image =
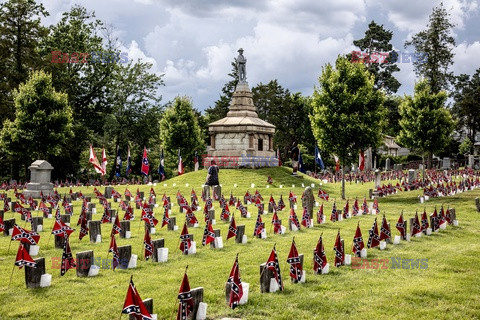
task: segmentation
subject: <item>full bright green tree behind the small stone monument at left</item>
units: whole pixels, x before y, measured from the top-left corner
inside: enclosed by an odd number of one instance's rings
[[[5,121],[0,144],[12,161],[23,164],[26,178],[32,160],[51,161],[55,167],[51,158],[73,143],[72,110],[67,95],[56,92],[52,76],[43,71],[32,72],[13,95],[15,120]]]

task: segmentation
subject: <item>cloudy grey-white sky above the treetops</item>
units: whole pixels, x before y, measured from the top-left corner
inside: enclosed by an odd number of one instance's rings
[[[39,0],[37,0],[39,1]],[[277,79],[292,92],[310,95],[321,68],[338,54],[356,50],[375,20],[393,31],[392,43],[403,44],[425,29],[432,8],[441,0],[41,0],[56,23],[73,4],[80,4],[109,23],[129,58],[142,58],[165,74],[163,101],[177,95],[193,99],[197,109],[213,106],[230,81],[231,61],[242,47],[250,87]],[[480,67],[478,0],[443,0],[455,23],[455,73]],[[409,51],[413,49],[410,48]],[[408,50],[406,50],[408,51]],[[415,74],[400,63],[400,94],[411,94]]]

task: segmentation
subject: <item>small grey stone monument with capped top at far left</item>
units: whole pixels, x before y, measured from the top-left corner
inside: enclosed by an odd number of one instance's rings
[[[45,160],[36,160],[30,167],[30,182],[27,183],[27,189],[23,191],[26,198],[40,198],[40,192],[44,196],[53,194],[53,183],[50,182],[53,167]]]

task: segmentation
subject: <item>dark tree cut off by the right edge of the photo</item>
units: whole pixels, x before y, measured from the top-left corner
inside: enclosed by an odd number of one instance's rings
[[[480,130],[480,68],[471,77],[462,74],[456,78],[453,97],[452,113],[458,120],[457,131],[466,134],[471,142],[469,152],[473,153],[473,143]]]

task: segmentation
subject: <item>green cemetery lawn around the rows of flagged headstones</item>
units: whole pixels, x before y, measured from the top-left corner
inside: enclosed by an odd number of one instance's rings
[[[223,185],[223,194],[226,198],[230,192],[235,197],[242,197],[247,191],[262,194],[265,206],[268,205],[270,194],[278,202],[280,195],[288,208],[288,193],[292,190],[298,196],[296,213],[301,219],[300,196],[302,183],[306,186],[314,183],[315,199],[317,197],[319,181],[302,175],[295,178],[287,168],[257,169],[257,170],[221,170],[220,182]],[[271,175],[273,184],[266,188],[267,177]],[[206,171],[188,173],[168,181],[158,183],[154,190],[157,198],[163,193],[171,197],[175,206],[172,216],[177,217],[178,231],[167,231],[160,228],[163,210],[155,208],[156,217],[160,220],[156,234],[152,239],[164,238],[165,246],[169,248],[169,259],[166,263],[154,263],[143,260],[143,222],[139,220],[141,211],[135,210],[135,220],[132,221],[130,239],[121,239],[117,236],[118,246],[131,244],[132,253],[137,254],[139,261],[136,269],[129,270],[100,270],[100,274],[93,278],[78,278],[74,269],[69,270],[63,277],[59,269],[52,269],[52,258],[61,257],[62,250],[54,248],[53,236],[49,233],[54,219],[44,219],[44,231],[41,232],[40,253],[38,257],[45,257],[46,271],[52,274],[52,285],[48,288],[26,289],[24,270],[15,267],[13,279],[8,288],[15,255],[18,248],[17,241],[10,241],[9,237],[0,236],[0,318],[1,319],[120,319],[125,294],[130,276],[138,289],[142,299],[154,299],[154,313],[158,319],[175,319],[177,310],[177,294],[182,281],[183,272],[188,265],[188,276],[191,288],[204,287],[204,302],[208,304],[207,316],[209,319],[223,317],[241,319],[472,319],[480,318],[480,213],[475,209],[475,197],[480,197],[480,189],[467,191],[455,196],[430,199],[425,204],[419,204],[418,195],[421,191],[401,192],[397,195],[380,198],[379,206],[386,214],[392,228],[392,237],[398,235],[395,224],[401,211],[406,219],[413,217],[415,211],[419,214],[424,207],[427,213],[433,212],[434,207],[441,205],[456,209],[459,226],[448,226],[446,230],[434,233],[431,236],[412,238],[410,242],[402,241],[400,245],[387,245],[383,251],[368,250],[368,258],[389,259],[388,269],[354,270],[351,266],[333,267],[333,245],[337,231],[340,230],[345,240],[346,254],[351,253],[352,239],[357,223],[363,234],[365,245],[368,239],[368,230],[375,219],[372,215],[354,217],[352,219],[325,224],[315,223],[314,228],[299,232],[287,230],[285,235],[274,235],[271,228],[272,214],[265,214],[262,219],[267,229],[267,239],[253,238],[253,230],[257,216],[254,205],[249,205],[251,218],[241,218],[239,211],[235,212],[237,225],[246,225],[248,236],[247,244],[236,244],[233,239],[225,241],[228,232],[228,223],[219,219],[219,205],[216,209],[216,225],[214,229],[221,230],[223,249],[202,247],[201,239],[204,230],[204,219],[201,211],[196,212],[200,220],[198,228],[190,228],[197,243],[197,254],[182,255],[178,250],[179,235],[185,221],[185,215],[179,213],[175,195],[178,190],[190,202],[192,187],[201,195],[201,185],[205,181]],[[186,184],[189,184],[186,186]],[[254,187],[251,184],[255,184]],[[164,184],[166,186],[164,186]],[[235,187],[236,184],[236,187]],[[295,186],[292,187],[292,184]],[[283,185],[283,188],[280,188]],[[330,200],[324,202],[324,213],[330,217],[332,204],[336,199],[337,209],[342,209],[345,201],[340,199],[340,183],[326,184],[322,188],[330,194]],[[373,182],[367,184],[346,183],[346,195],[350,199],[350,208],[355,197],[359,202],[368,189],[373,188]],[[125,186],[115,187],[122,195]],[[135,193],[137,186],[129,186]],[[101,192],[104,188],[99,188]],[[140,191],[148,194],[150,186],[140,186]],[[59,193],[68,194],[68,188],[59,188]],[[73,191],[82,191],[84,195],[92,196],[97,203],[97,214],[94,220],[99,220],[102,210],[94,198],[93,187],[73,188]],[[13,197],[12,192],[8,192]],[[369,200],[369,203],[372,201]],[[200,200],[203,208],[203,201]],[[118,209],[118,204],[112,203],[112,208]],[[81,208],[81,201],[74,202],[74,216],[72,227],[76,231],[71,235],[71,249],[73,255],[84,250],[94,250],[96,257],[111,258],[108,254],[109,235],[111,224],[102,225],[102,243],[91,244],[88,236],[78,240],[80,228],[76,226]],[[314,208],[316,212],[317,207]],[[63,213],[63,212],[62,212]],[[34,216],[40,215],[35,211]],[[123,217],[123,211],[120,213]],[[284,226],[288,226],[289,210],[279,212],[279,218]],[[17,223],[20,215],[13,212],[5,213],[5,219],[15,217]],[[381,216],[378,216],[381,223]],[[27,225],[27,229],[30,226]],[[288,229],[288,228],[287,228]],[[313,254],[319,236],[323,233],[323,241],[330,273],[327,275],[313,274]],[[292,238],[295,237],[299,253],[305,255],[304,269],[307,271],[306,283],[293,284],[289,279],[289,265],[286,263]],[[7,252],[11,242],[10,250]],[[259,266],[264,263],[276,244],[280,261],[285,291],[277,293],[260,293]],[[243,282],[250,283],[248,303],[231,310],[225,302],[225,281],[230,269],[239,254],[240,274]],[[392,269],[391,258],[401,259],[428,259],[426,269]],[[36,257],[34,257],[36,258]],[[123,315],[121,319],[128,319]]]

